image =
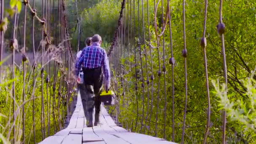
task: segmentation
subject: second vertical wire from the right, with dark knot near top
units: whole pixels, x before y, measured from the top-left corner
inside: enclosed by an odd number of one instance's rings
[[[209,82],[208,82],[208,70],[207,70],[207,57],[206,57],[206,38],[205,38],[205,31],[206,31],[206,19],[207,19],[207,5],[208,0],[205,0],[205,15],[204,15],[204,22],[203,22],[203,37],[201,38],[200,45],[203,48],[203,59],[205,65],[205,82],[206,82],[206,91],[207,91],[207,100],[208,100],[208,110],[207,110],[207,125],[205,128],[205,136],[203,139],[203,144],[206,144],[208,129],[210,125],[210,118],[211,118],[211,104],[210,104],[210,92],[209,92]]]

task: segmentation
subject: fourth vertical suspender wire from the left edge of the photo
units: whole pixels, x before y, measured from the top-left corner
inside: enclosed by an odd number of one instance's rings
[[[33,11],[35,12],[35,0],[33,0]],[[32,41],[33,41],[33,85],[35,85],[35,67],[36,67],[36,61],[35,61],[35,13],[32,13]],[[33,137],[34,137],[34,144],[35,142],[35,95],[33,95]]]

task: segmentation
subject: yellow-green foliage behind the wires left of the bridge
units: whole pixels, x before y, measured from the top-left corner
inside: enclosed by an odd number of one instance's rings
[[[27,67],[28,69],[29,67]],[[38,65],[38,68],[40,68],[40,64]],[[28,69],[29,70],[29,69]],[[27,143],[32,143],[33,141],[33,109],[32,109],[32,101],[34,99],[35,101],[35,131],[36,131],[36,141],[41,141],[41,91],[42,91],[42,84],[41,84],[41,70],[36,69],[35,70],[35,79],[33,79],[32,71],[28,71],[26,74],[26,82],[25,82],[25,91],[26,91],[26,97],[25,97],[25,141]],[[59,77],[60,77],[59,72]],[[11,136],[8,136],[8,132],[12,131],[11,125],[13,124],[13,112],[12,112],[12,104],[13,104],[13,96],[12,96],[12,79],[6,79],[7,77],[11,77],[11,71],[8,67],[4,67],[4,81],[2,80],[1,83],[1,93],[0,93],[0,133],[3,134],[7,138],[8,141],[13,139],[13,135],[11,133]],[[15,69],[15,76],[16,79],[15,82],[15,103],[16,103],[16,141],[21,140],[22,136],[22,111],[21,106],[23,104],[22,102],[22,89],[23,89],[23,72],[22,68],[20,66]],[[35,80],[35,85],[33,85],[33,80]],[[53,83],[53,77],[50,80],[50,83]],[[56,87],[59,87],[59,83],[56,83]],[[61,117],[66,115],[65,113],[62,113],[63,111],[57,110],[57,105],[53,109],[53,101],[55,101],[55,104],[58,104],[60,98],[59,96],[55,96],[55,99],[53,99],[52,89],[48,87],[47,91],[47,84],[45,83],[45,80],[43,80],[43,96],[44,96],[44,115],[45,115],[45,133],[47,136],[47,109],[51,110],[51,113],[53,110],[55,111],[55,115],[60,115]],[[65,95],[65,89],[63,89],[62,94]],[[51,97],[51,109],[50,109],[50,97]],[[65,100],[66,101],[66,100]],[[63,101],[63,102],[65,102]],[[66,109],[66,105],[64,103],[59,103],[59,109]],[[62,119],[55,117],[57,124],[58,122],[63,123]],[[53,125],[53,115],[50,115],[50,134],[54,134],[54,125]],[[30,142],[29,142],[30,141]]]

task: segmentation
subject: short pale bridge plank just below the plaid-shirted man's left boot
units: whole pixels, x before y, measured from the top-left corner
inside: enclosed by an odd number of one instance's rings
[[[97,136],[92,128],[83,128],[83,143],[89,141],[102,141],[103,139]]]

